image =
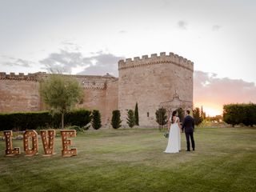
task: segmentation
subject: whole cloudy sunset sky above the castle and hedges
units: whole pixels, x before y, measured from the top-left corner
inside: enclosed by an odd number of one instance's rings
[[[118,60],[194,62],[194,106],[256,102],[256,1],[0,0],[0,71],[118,77]]]

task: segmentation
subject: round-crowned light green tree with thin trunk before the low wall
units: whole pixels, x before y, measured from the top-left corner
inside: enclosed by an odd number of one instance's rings
[[[83,90],[79,82],[60,74],[50,74],[49,78],[42,80],[39,94],[53,114],[62,115],[62,129],[64,114],[83,98]]]

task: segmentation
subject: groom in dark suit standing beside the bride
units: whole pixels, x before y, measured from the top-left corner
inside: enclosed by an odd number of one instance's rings
[[[186,118],[182,122],[182,133],[185,129],[186,134],[186,151],[190,151],[190,139],[192,143],[192,149],[194,150],[194,118],[190,116],[190,110],[186,110]]]

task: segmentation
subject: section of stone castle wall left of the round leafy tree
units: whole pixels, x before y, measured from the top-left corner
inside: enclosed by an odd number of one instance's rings
[[[38,75],[0,73],[0,112],[42,110]]]

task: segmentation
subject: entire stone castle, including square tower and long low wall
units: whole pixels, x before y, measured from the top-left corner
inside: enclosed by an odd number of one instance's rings
[[[155,112],[164,107],[176,110],[193,108],[194,63],[177,54],[165,52],[126,58],[118,62],[118,78],[106,74],[71,75],[81,83],[85,98],[78,108],[99,110],[102,124],[109,125],[112,111],[120,110],[126,126],[128,110],[138,102],[139,124],[157,126]],[[0,73],[0,113],[45,110],[40,98],[39,81],[49,74]]]

